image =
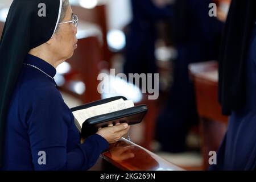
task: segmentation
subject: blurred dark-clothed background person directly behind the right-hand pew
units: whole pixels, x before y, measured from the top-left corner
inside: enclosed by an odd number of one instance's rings
[[[210,17],[208,7],[212,0],[179,0],[173,9],[174,46],[177,59],[174,61],[174,82],[166,107],[159,114],[156,139],[162,151],[183,152],[185,138],[192,125],[197,125],[195,93],[189,79],[188,64],[217,60],[224,10],[218,9],[217,17]]]

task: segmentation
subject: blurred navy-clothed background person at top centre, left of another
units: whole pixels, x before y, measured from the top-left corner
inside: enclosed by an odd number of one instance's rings
[[[157,73],[156,22],[170,18],[167,0],[131,0],[132,20],[127,26],[124,73]]]

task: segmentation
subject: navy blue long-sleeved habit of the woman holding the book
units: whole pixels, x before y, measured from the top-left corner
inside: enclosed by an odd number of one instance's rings
[[[56,69],[28,55],[24,63],[49,76]],[[23,65],[6,123],[3,170],[84,170],[96,163],[109,143],[94,134],[80,144],[71,110],[55,81],[29,65]],[[46,164],[42,164],[42,152]]]

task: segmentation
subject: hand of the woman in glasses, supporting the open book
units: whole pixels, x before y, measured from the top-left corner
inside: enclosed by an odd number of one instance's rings
[[[101,135],[101,137],[105,138],[109,143],[118,142],[123,135],[127,134],[130,126],[127,123],[122,123],[119,125],[110,125],[108,127],[100,128],[96,134]]]

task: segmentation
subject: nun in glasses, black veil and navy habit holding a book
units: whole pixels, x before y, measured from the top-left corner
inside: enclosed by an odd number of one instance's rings
[[[129,130],[123,123],[80,139],[53,79],[77,47],[77,22],[68,0],[13,1],[0,43],[0,169],[88,169]]]

